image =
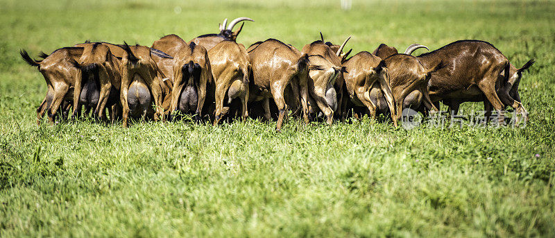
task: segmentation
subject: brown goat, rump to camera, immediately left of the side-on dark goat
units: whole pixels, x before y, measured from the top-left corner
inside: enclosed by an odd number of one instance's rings
[[[402,117],[405,99],[414,91],[422,94],[422,101],[428,110],[438,110],[429,98],[427,87],[430,74],[438,68],[438,65],[422,65],[414,56],[397,53],[382,60],[376,70],[379,71],[379,68],[384,70],[384,67],[387,68],[398,119]]]

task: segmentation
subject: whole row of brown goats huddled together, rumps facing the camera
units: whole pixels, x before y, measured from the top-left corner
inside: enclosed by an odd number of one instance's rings
[[[24,60],[37,67],[48,91],[37,109],[37,123],[46,112],[54,123],[56,115],[81,117],[93,110],[93,117],[114,123],[121,118],[165,120],[190,114],[195,120],[263,117],[273,119],[277,130],[292,110],[305,122],[368,114],[391,115],[397,126],[404,108],[428,114],[438,110],[439,101],[452,113],[466,101],[483,101],[486,117],[492,109],[502,117],[511,106],[524,115],[518,84],[522,71],[492,44],[461,40],[441,49],[411,56],[420,44],[404,53],[380,44],[369,53],[361,51],[348,58],[341,45],[316,40],[295,47],[275,39],[256,42],[246,49],[236,42],[239,17],[220,33],[200,35],[188,44],[177,35],[166,35],[148,46],[107,42],[85,42],[64,47],[43,60]],[[270,99],[273,99],[271,101]],[[492,108],[493,107],[493,108]],[[248,110],[248,108],[250,110]],[[240,109],[240,110],[239,110]],[[275,115],[275,113],[274,113]],[[526,118],[525,118],[526,119]]]

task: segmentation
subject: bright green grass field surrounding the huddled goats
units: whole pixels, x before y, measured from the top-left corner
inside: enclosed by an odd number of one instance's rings
[[[555,2],[17,1],[0,9],[0,237],[554,237]],[[493,43],[524,73],[524,128],[372,121],[35,124],[42,75],[19,57],[84,40],[150,46],[216,33],[299,49]],[[423,53],[419,50],[416,52]],[[462,110],[481,110],[466,103]],[[445,110],[445,108],[442,108]]]

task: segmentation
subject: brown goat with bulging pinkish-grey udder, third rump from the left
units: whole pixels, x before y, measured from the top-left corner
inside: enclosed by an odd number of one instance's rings
[[[153,119],[164,119],[162,99],[166,85],[162,71],[151,58],[151,49],[147,46],[128,46],[121,60],[121,93],[120,100],[123,108],[123,127],[128,126],[128,117],[146,116],[148,108],[153,102],[155,110]]]

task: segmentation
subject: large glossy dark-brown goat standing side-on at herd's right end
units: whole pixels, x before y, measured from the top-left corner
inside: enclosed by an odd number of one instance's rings
[[[520,103],[518,83],[522,71],[533,65],[533,60],[517,69],[493,44],[479,40],[453,42],[422,54],[418,59],[423,65],[441,65],[430,78],[432,101],[453,100],[456,103],[452,109],[456,110],[465,101],[484,101],[486,117],[490,116],[493,106],[500,118],[503,117],[501,110],[511,106],[527,120],[527,111]]]

